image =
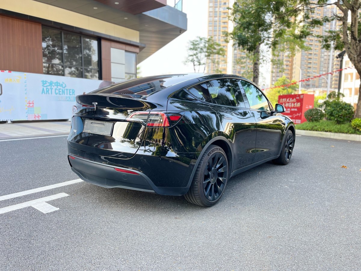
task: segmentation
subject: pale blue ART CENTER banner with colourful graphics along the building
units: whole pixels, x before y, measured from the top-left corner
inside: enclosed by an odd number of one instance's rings
[[[75,96],[108,81],[0,71],[0,121],[70,119]]]

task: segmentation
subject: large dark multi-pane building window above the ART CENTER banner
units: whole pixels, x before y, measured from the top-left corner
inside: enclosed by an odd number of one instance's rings
[[[42,28],[43,72],[78,78],[99,78],[97,39]]]

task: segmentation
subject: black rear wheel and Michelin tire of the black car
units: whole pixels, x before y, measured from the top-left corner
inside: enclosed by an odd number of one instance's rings
[[[184,197],[199,206],[213,206],[222,197],[228,178],[229,166],[225,151],[216,145],[210,145],[202,155]]]

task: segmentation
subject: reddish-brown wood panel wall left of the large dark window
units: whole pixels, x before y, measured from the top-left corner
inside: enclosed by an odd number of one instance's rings
[[[0,15],[0,70],[43,73],[40,23]]]

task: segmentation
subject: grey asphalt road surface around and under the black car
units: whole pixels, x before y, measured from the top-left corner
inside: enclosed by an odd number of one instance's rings
[[[66,153],[0,142],[0,196],[77,179]],[[0,214],[0,270],[360,270],[360,169],[361,142],[298,136],[290,164],[231,178],[211,208],[86,182],[5,199],[69,195]]]

